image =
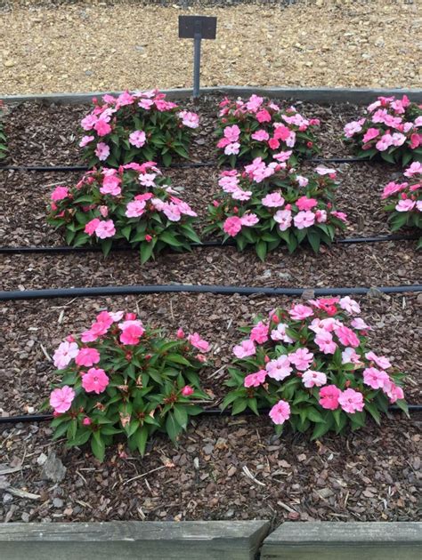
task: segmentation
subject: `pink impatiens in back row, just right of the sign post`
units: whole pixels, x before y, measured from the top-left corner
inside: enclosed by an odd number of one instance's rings
[[[255,157],[269,162],[289,148],[295,164],[299,157],[319,151],[314,130],[320,121],[304,118],[294,107],[283,110],[270,100],[252,95],[247,101],[225,98],[220,108],[215,131],[220,164],[229,162],[234,167],[239,160]]]

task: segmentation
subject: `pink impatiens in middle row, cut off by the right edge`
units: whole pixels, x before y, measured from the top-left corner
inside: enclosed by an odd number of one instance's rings
[[[422,164],[414,162],[404,172],[406,181],[391,181],[385,185],[381,198],[393,231],[400,228],[422,229]],[[418,246],[422,246],[422,237]]]

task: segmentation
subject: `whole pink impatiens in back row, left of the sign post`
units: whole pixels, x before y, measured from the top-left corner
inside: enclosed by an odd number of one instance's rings
[[[189,157],[191,132],[199,116],[181,110],[166,94],[124,92],[118,98],[93,99],[93,110],[82,119],[84,148],[89,165],[118,167],[159,159],[170,165],[174,156]]]

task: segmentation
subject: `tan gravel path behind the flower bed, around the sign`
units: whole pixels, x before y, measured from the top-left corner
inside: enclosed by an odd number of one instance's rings
[[[417,1],[113,4],[0,2],[0,96],[190,87],[192,45],[177,38],[177,17],[195,12],[218,18],[217,39],[203,44],[204,85],[422,83]]]

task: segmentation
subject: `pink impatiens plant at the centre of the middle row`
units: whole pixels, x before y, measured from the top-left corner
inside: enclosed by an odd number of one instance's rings
[[[223,242],[232,237],[239,251],[254,246],[261,260],[280,244],[289,252],[305,241],[314,252],[330,244],[346,220],[333,204],[336,171],[321,165],[309,177],[299,175],[282,161],[289,154],[268,165],[258,157],[244,172],[222,172],[223,192],[208,207],[206,233]]]

